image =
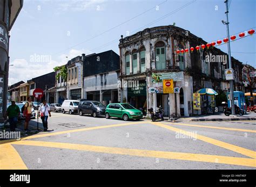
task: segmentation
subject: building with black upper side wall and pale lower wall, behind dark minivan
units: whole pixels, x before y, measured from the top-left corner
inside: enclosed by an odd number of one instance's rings
[[[86,56],[83,63],[84,98],[105,105],[118,102],[119,55],[112,50]]]

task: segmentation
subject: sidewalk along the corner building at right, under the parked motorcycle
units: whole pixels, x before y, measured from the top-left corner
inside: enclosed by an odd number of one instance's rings
[[[165,118],[168,120],[168,118]],[[247,112],[244,116],[231,117],[225,116],[223,112],[214,115],[201,115],[193,117],[181,117],[178,121],[237,121],[237,120],[256,120],[255,112]]]

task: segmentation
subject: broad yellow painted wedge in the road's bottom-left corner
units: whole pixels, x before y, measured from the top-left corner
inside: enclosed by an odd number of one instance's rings
[[[12,145],[0,145],[0,150],[0,169],[28,169]]]

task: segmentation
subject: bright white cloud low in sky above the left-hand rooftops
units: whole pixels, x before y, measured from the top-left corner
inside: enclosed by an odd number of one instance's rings
[[[54,67],[62,66],[73,57],[82,55],[82,53],[85,53],[86,55],[91,54],[87,49],[71,49],[68,53],[59,55],[55,60],[51,59],[49,62],[31,62],[30,58],[28,58],[28,60],[15,59],[10,63],[14,64],[14,66],[10,66],[9,68],[8,85],[15,84],[19,81],[26,82],[32,78],[51,73]],[[68,58],[66,58],[66,56],[68,56]]]

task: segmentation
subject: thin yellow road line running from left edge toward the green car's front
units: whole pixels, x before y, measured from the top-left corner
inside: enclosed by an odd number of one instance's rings
[[[42,137],[46,137],[46,136],[53,136],[53,135],[73,133],[73,132],[91,131],[91,130],[97,130],[97,129],[101,129],[101,128],[120,127],[120,126],[126,126],[126,125],[136,125],[136,124],[145,124],[145,123],[147,123],[147,122],[146,121],[138,121],[138,122],[125,123],[125,124],[78,128],[78,129],[75,129],[75,130],[60,131],[60,132],[55,132],[55,133],[43,133],[43,134],[37,134],[37,135],[32,135],[32,136],[26,136],[24,138],[21,138],[21,140],[28,140],[28,139],[33,139],[33,138],[42,138]],[[13,142],[13,141],[14,140],[4,140],[3,142],[0,141],[0,145],[3,144],[3,143],[9,143],[9,142]]]

